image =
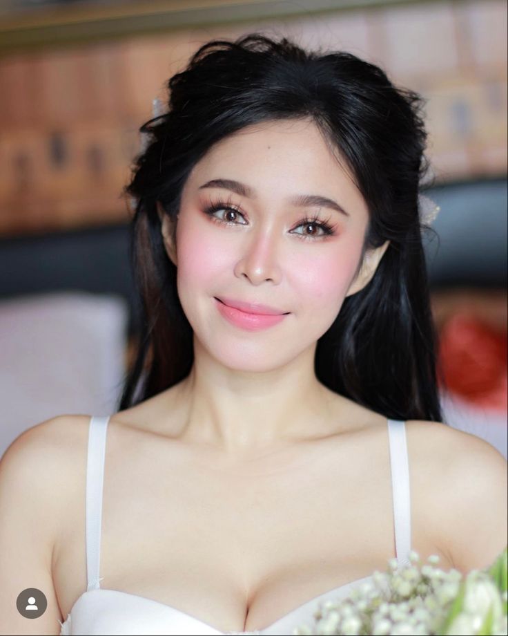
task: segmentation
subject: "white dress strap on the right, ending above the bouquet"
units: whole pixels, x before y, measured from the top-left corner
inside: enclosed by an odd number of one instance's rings
[[[411,563],[411,492],[405,424],[402,420],[388,420],[395,553],[400,565]]]

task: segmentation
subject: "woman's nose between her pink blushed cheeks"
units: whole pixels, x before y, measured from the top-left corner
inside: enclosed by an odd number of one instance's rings
[[[235,276],[248,278],[253,285],[264,281],[280,283],[281,270],[278,261],[275,232],[262,230],[253,232],[242,245],[242,253],[235,265]]]

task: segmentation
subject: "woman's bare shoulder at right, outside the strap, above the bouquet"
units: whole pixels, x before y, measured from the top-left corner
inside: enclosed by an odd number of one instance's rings
[[[440,539],[461,572],[488,567],[507,545],[507,462],[489,442],[442,422],[409,420],[410,466],[427,483]]]

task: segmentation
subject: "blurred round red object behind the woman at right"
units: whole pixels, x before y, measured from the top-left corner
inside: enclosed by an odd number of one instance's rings
[[[508,411],[507,333],[467,312],[442,327],[440,363],[446,389],[487,409]]]

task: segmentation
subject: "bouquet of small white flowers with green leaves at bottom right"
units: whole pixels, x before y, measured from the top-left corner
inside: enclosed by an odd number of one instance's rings
[[[389,561],[387,573],[372,579],[339,601],[324,601],[315,623],[295,628],[294,636],[503,636],[507,635],[507,548],[485,570],[444,572],[439,557],[398,569]]]

